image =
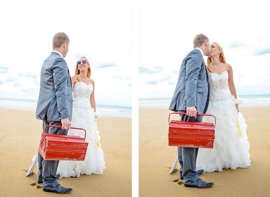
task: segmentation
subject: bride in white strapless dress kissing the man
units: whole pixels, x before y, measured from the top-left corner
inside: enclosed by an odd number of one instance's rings
[[[223,50],[211,43],[207,60],[210,82],[209,105],[206,114],[217,118],[213,149],[199,148],[196,169],[205,172],[222,172],[222,169],[247,168],[250,166],[250,144],[247,141],[247,125],[238,110],[241,100],[237,98],[232,77],[232,66],[227,64]],[[214,122],[204,116],[203,122]]]

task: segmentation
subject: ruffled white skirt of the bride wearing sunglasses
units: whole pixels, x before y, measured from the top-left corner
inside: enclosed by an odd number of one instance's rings
[[[85,141],[88,142],[88,148],[84,161],[59,161],[57,174],[60,174],[60,178],[79,177],[81,174],[102,174],[105,169],[104,152],[101,149],[101,137],[98,135],[99,131],[97,129],[94,109],[91,107],[76,106],[76,103],[74,104],[71,127],[86,130]],[[84,138],[85,132],[83,130],[70,129],[67,135]]]

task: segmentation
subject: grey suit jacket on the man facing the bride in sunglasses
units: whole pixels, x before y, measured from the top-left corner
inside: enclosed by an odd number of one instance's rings
[[[43,62],[36,118],[60,121],[72,118],[72,90],[66,61],[56,52]]]

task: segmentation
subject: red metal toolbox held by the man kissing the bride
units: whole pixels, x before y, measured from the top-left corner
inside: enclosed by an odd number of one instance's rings
[[[186,114],[175,112],[171,114]],[[171,115],[170,114],[170,115]],[[192,148],[213,148],[215,137],[216,117],[210,114],[197,114],[208,115],[215,118],[215,125],[208,122],[189,122],[189,121],[176,121],[170,122],[169,115],[169,146],[182,146]]]

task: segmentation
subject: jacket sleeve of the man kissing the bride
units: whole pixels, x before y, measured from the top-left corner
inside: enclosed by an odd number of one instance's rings
[[[186,64],[186,107],[197,107],[197,81],[201,65],[202,58],[200,57],[200,54],[196,54],[196,52],[191,52],[187,57]]]

